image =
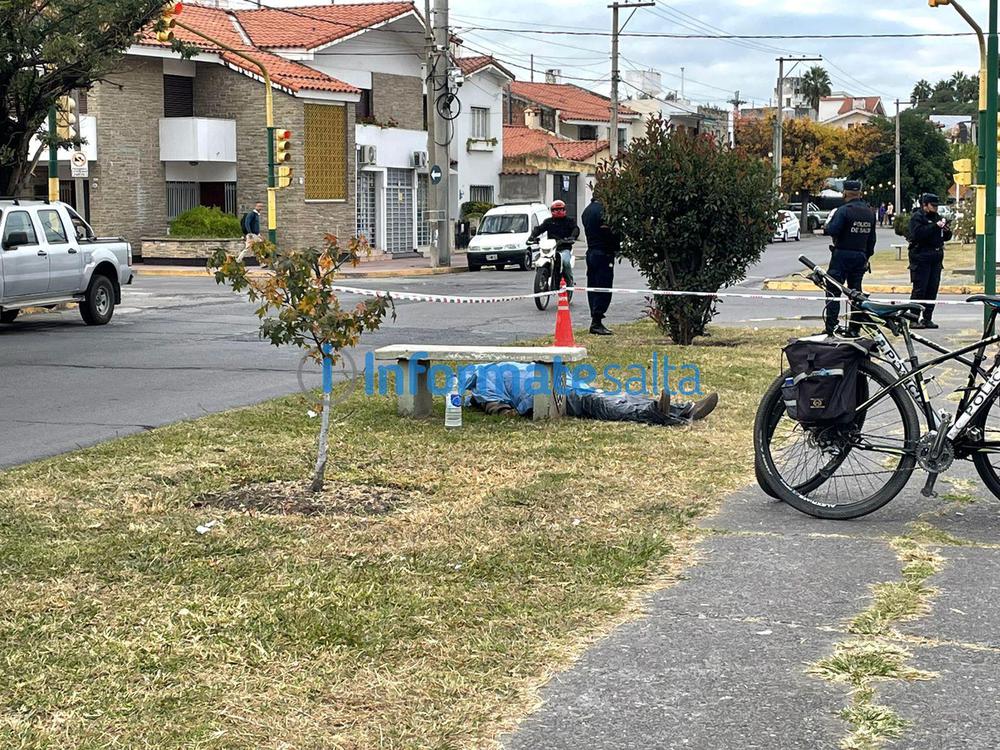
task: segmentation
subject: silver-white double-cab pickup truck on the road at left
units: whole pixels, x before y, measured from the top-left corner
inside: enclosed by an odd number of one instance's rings
[[[132,277],[131,245],[97,237],[65,203],[0,199],[0,323],[78,302],[87,325],[104,325]]]

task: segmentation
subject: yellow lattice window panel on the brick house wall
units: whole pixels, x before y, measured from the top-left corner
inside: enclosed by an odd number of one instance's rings
[[[305,107],[306,200],[347,199],[347,108]]]

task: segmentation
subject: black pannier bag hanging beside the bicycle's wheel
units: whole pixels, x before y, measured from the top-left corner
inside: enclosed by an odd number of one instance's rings
[[[791,374],[782,387],[788,416],[804,424],[848,424],[866,389],[858,377],[861,362],[875,342],[870,339],[814,337],[785,347]]]

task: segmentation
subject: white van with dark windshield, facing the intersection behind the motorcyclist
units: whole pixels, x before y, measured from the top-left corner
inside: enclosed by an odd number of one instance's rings
[[[496,206],[483,215],[479,231],[469,242],[466,258],[470,271],[483,266],[516,265],[522,271],[531,268],[528,237],[532,230],[549,218],[549,209],[542,203],[516,203]]]

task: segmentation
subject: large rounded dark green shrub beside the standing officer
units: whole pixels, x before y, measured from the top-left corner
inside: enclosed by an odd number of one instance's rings
[[[774,232],[770,164],[653,120],[597,174],[609,226],[653,289],[715,292],[746,276]],[[705,333],[712,297],[658,295],[652,317],[678,344]]]

